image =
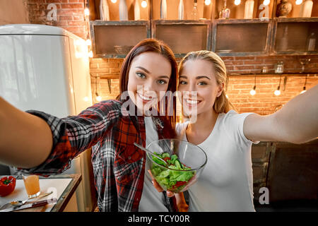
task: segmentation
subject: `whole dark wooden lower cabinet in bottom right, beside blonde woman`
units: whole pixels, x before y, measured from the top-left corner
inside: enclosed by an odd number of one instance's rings
[[[260,142],[252,145],[254,202],[269,189],[269,203],[311,200],[318,195],[318,139],[302,144]]]

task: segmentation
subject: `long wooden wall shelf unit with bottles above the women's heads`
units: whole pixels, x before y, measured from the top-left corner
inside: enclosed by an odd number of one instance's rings
[[[137,0],[141,4],[141,0]],[[278,54],[318,54],[318,1],[314,1],[311,18],[297,18],[300,5],[294,1],[293,11],[276,18],[281,0],[254,0],[252,19],[244,19],[245,0],[239,5],[227,1],[230,18],[219,18],[223,0],[206,6],[198,0],[196,20],[194,1],[184,0],[184,20],[178,19],[179,0],[167,1],[167,18],[160,18],[161,0],[148,0],[141,7],[141,20],[134,20],[134,0],[126,0],[129,20],[119,21],[119,0],[110,6],[110,21],[99,16],[100,0],[90,1],[90,33],[94,57],[125,57],[127,49],[139,41],[154,37],[165,41],[176,57],[194,50],[211,50],[220,56],[269,56]],[[311,40],[311,48],[309,42]]]

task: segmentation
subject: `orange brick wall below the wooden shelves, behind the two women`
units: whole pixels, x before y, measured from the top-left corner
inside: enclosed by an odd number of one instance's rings
[[[283,61],[286,73],[299,73],[302,70],[300,58],[310,58],[310,64],[305,67],[305,72],[318,74],[318,56],[279,56],[279,57],[222,57],[228,73],[260,73],[263,66],[267,66],[269,73],[274,72],[277,61]],[[123,59],[90,59],[90,73],[93,76],[102,73],[118,73]],[[286,77],[286,80],[284,79]],[[257,76],[256,95],[252,96],[249,91],[254,87],[254,76],[229,76],[227,93],[230,102],[237,112],[256,112],[258,114],[271,114],[288,100],[300,94],[305,84],[305,76],[282,76],[281,95],[276,96],[276,90],[280,77]],[[284,85],[284,81],[286,81]],[[95,99],[96,78],[92,78],[93,102]],[[318,76],[307,77],[307,90],[318,84]],[[98,93],[103,100],[114,99],[119,94],[119,80],[111,80],[111,93],[107,79],[99,79],[97,83]]]

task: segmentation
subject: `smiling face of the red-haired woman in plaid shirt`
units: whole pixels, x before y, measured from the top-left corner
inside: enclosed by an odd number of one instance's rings
[[[163,55],[155,52],[140,54],[131,61],[127,85],[129,97],[139,109],[156,106],[160,92],[167,91],[171,73],[170,61]]]

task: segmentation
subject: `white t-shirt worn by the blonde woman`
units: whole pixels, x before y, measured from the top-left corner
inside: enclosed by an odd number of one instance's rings
[[[218,115],[213,131],[199,144],[208,162],[189,191],[190,211],[255,211],[253,204],[252,141],[243,133],[247,115],[234,110]],[[177,124],[177,134],[187,122]],[[183,138],[187,141],[184,133]],[[254,142],[258,143],[258,142]]]

